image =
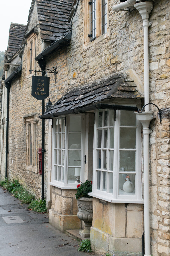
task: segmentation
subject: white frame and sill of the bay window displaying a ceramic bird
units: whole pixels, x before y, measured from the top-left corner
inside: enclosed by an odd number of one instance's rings
[[[135,174],[135,195],[126,195],[126,194],[119,195],[120,110],[116,110],[116,121],[114,126],[115,131],[114,131],[113,194],[97,189],[97,171],[96,171],[97,124],[98,124],[98,110],[95,111],[95,125],[94,125],[93,190],[92,190],[92,193],[89,193],[89,195],[98,199],[108,201],[108,202],[143,204],[142,187],[141,187],[142,182],[141,182],[141,124],[140,122],[136,120],[136,172],[134,173]],[[130,128],[131,126],[128,126],[128,127]],[[109,141],[109,137],[108,137],[108,141]],[[101,168],[101,171],[102,171],[102,168]],[[131,174],[133,174],[133,172],[131,172]]]

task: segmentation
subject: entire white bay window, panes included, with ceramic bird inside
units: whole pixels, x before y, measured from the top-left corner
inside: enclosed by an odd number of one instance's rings
[[[142,203],[140,148],[141,128],[134,112],[96,111],[90,195],[109,202]]]

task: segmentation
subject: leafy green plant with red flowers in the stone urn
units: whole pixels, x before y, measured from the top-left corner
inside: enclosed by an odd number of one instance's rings
[[[78,185],[76,190],[77,190],[77,193],[75,194],[76,199],[79,199],[80,197],[91,197],[87,195],[87,193],[92,192],[91,180],[90,181],[86,180],[86,182],[82,183],[81,185]]]

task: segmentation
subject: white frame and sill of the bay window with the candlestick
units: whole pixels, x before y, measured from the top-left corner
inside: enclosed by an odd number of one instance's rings
[[[75,116],[75,115],[70,115],[70,116]],[[85,156],[85,114],[80,114],[76,116],[81,116],[81,172],[80,172],[80,181],[83,183],[84,182],[84,156]],[[62,116],[59,118],[65,118],[66,120],[66,129],[65,129],[65,155],[64,155],[64,182],[60,182],[55,180],[55,167],[54,167],[54,144],[55,144],[55,123],[56,119],[53,119],[53,135],[52,135],[52,166],[51,166],[51,182],[49,183],[50,185],[54,187],[58,187],[61,189],[76,189],[78,184],[81,183],[67,183],[67,178],[68,178],[68,140],[69,140],[69,116]],[[76,180],[76,178],[75,178]]]

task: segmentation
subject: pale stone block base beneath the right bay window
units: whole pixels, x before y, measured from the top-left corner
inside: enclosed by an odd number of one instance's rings
[[[93,198],[91,248],[95,254],[141,255],[143,205],[112,204]]]

